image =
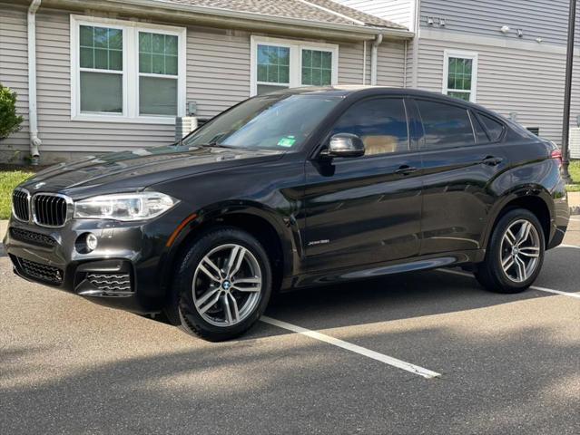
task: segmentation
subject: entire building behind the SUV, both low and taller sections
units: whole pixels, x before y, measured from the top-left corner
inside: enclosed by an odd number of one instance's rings
[[[176,117],[317,84],[443,92],[559,143],[567,14],[568,0],[0,0],[0,82],[25,116],[0,161],[167,144]],[[570,121],[580,158],[578,92]]]

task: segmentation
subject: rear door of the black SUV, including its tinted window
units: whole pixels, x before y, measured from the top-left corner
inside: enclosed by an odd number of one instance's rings
[[[489,118],[496,131],[484,128],[461,104],[416,103],[424,131],[421,255],[480,248],[489,209],[509,183],[504,126]]]

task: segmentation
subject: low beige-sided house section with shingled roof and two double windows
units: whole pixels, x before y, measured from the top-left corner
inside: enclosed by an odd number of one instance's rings
[[[0,160],[171,143],[176,116],[289,86],[405,86],[412,36],[330,0],[0,0],[0,82],[25,116]]]

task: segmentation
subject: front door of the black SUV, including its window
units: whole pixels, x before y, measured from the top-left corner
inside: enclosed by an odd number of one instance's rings
[[[309,271],[417,256],[421,161],[403,98],[355,102],[329,132],[360,137],[365,155],[306,162]]]

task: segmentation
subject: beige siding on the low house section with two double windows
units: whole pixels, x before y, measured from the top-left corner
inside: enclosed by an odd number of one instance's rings
[[[4,6],[3,6],[4,7]],[[119,16],[119,19],[131,19]],[[99,153],[171,143],[173,125],[71,120],[70,14],[41,7],[37,16],[37,104],[41,156],[59,153]],[[2,24],[0,80],[19,93],[18,111],[27,112],[27,53],[25,9],[10,6],[0,14]],[[171,23],[160,23],[169,24]],[[314,42],[336,43],[329,40]],[[370,75],[370,43],[367,44]],[[250,96],[251,34],[190,26],[187,28],[187,98],[197,102],[200,118],[211,118]],[[379,53],[379,84],[401,85],[404,43],[384,43]],[[363,43],[339,43],[339,83],[362,84]],[[368,79],[369,80],[369,79]],[[27,152],[27,124],[0,150]],[[56,154],[54,154],[56,155]],[[44,160],[46,161],[46,160]]]

